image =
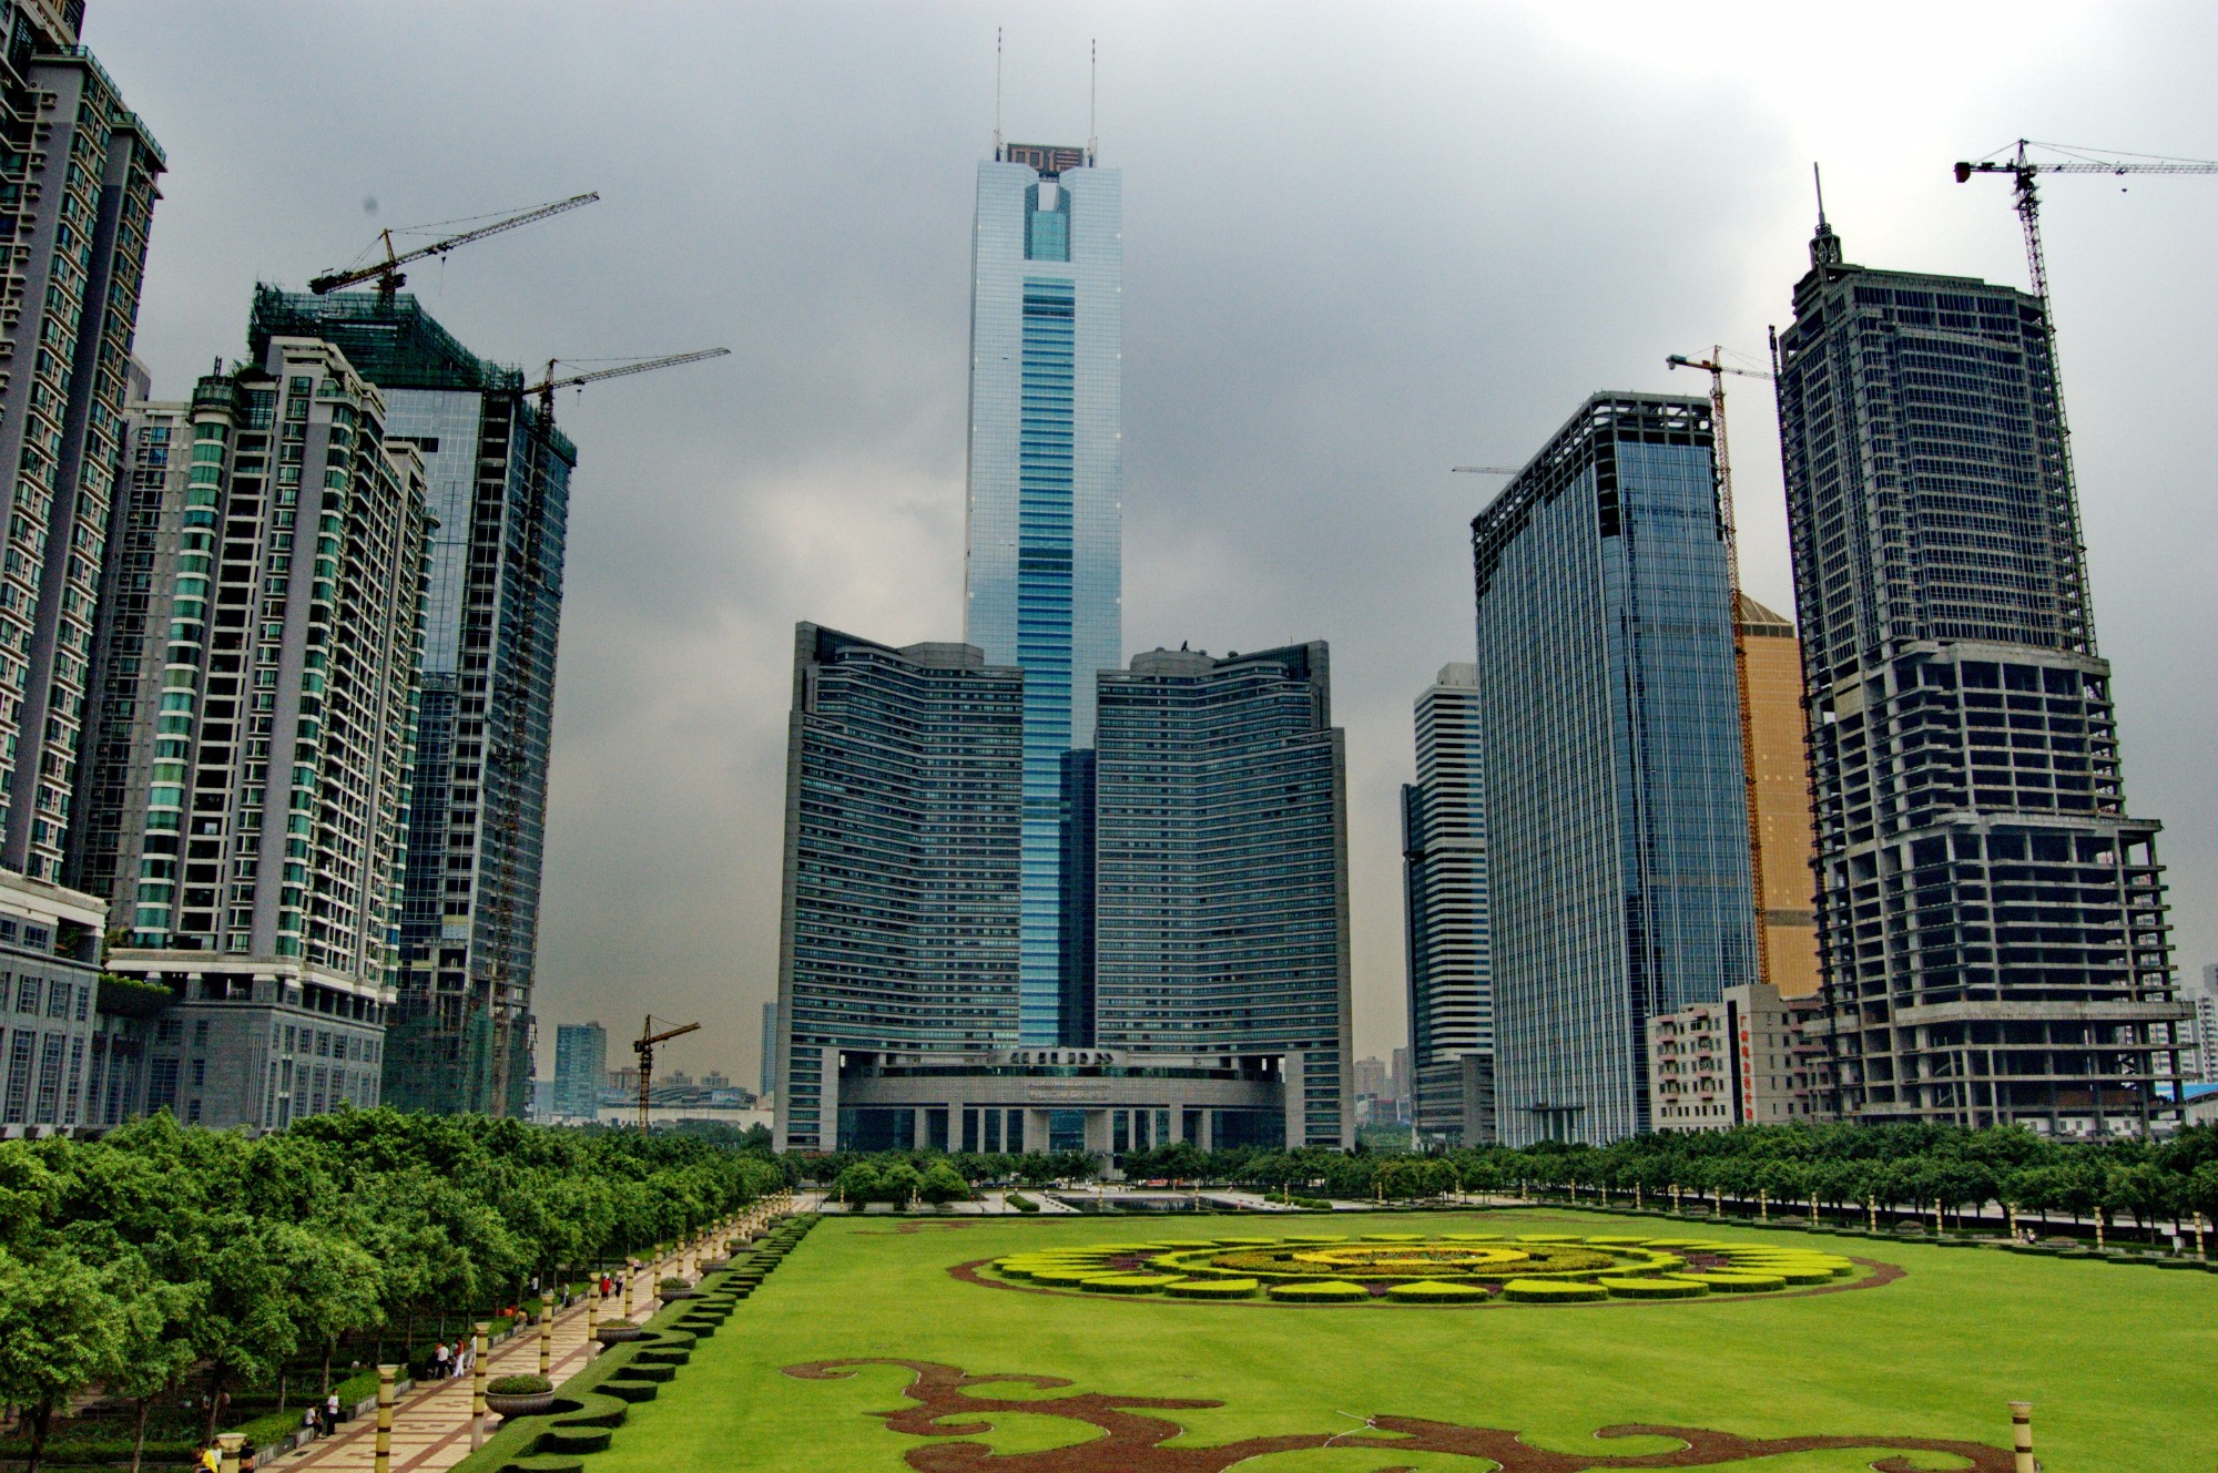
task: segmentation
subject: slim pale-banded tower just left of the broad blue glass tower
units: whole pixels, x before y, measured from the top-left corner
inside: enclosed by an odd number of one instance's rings
[[[1484,1056],[1490,1074],[1495,1052],[1477,666],[1444,666],[1417,697],[1417,781],[1402,790],[1402,907],[1417,1131],[1482,1145],[1466,1131],[1462,1063]]]

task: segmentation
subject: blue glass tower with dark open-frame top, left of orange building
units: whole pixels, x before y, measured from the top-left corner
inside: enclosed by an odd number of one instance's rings
[[[1499,1134],[1606,1142],[1757,967],[1708,402],[1595,395],[1471,535]]]

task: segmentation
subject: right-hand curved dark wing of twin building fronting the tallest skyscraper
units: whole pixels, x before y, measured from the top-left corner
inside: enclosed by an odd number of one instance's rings
[[[1100,674],[1093,1040],[1278,1054],[1286,1147],[1355,1142],[1346,754],[1322,643]]]

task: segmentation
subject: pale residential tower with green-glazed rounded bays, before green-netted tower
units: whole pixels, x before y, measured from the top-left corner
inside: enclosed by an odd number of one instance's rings
[[[186,1122],[379,1100],[428,537],[384,419],[344,353],[277,337],[126,421],[71,854],[109,967],[171,994],[142,1105]]]

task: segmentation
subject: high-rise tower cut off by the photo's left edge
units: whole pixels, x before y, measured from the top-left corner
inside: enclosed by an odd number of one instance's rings
[[[69,885],[93,606],[164,162],[80,0],[0,0],[0,1125],[91,1120],[104,910]]]

